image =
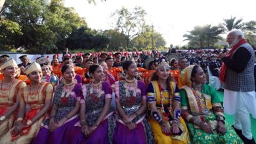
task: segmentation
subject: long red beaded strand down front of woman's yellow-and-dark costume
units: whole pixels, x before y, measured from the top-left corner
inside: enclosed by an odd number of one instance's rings
[[[161,97],[161,112],[163,113],[163,119],[164,120],[169,120],[169,116],[171,115],[171,111],[173,109],[172,105],[173,105],[173,99],[172,99],[172,96],[171,94],[169,94],[169,111],[168,113],[165,113],[165,110],[164,110],[164,106],[163,106],[163,99],[165,98],[163,96],[163,88],[161,87],[161,84],[158,84],[158,87],[159,87],[159,90],[160,90],[160,97]]]

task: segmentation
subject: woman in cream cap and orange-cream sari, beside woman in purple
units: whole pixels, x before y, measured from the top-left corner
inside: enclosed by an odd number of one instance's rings
[[[38,63],[33,62],[26,67],[25,73],[31,84],[22,88],[20,107],[15,126],[5,134],[0,143],[31,143],[40,129],[41,122],[47,116],[53,96],[53,86],[49,82],[42,82],[42,71]],[[31,109],[25,114],[26,104]]]

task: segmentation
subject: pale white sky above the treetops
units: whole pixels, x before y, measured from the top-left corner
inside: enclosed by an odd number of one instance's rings
[[[133,9],[135,6],[146,10],[147,24],[153,24],[160,32],[166,46],[185,45],[182,35],[195,26],[217,25],[224,18],[236,16],[244,22],[256,20],[255,0],[95,0],[96,5],[87,0],[65,0],[66,7],[74,7],[93,29],[114,27],[110,14],[121,7]]]

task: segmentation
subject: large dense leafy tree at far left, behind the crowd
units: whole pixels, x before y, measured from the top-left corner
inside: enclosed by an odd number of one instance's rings
[[[52,0],[49,5],[39,0],[7,0],[2,12],[3,20],[8,20],[12,29],[5,26],[2,31],[7,39],[0,43],[23,46],[29,53],[58,52],[65,47],[66,37],[81,26],[85,20],[79,18],[74,9],[66,8],[62,0]],[[15,35],[12,33],[15,32]],[[23,35],[22,35],[23,34]]]

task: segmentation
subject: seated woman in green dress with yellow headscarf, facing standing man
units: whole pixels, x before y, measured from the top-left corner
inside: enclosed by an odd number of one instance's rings
[[[190,65],[181,75],[182,117],[186,119],[192,143],[243,143],[224,121],[223,107],[214,88],[205,84],[199,65]]]

